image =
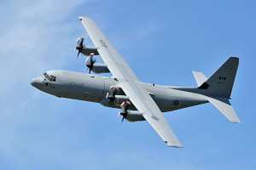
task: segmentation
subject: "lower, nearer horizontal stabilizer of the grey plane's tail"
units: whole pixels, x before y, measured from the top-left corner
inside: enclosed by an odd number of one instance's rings
[[[240,123],[239,118],[236,116],[236,112],[234,111],[232,105],[228,98],[222,97],[207,97],[207,100],[214,105],[224,116],[226,116],[230,122],[238,122]]]

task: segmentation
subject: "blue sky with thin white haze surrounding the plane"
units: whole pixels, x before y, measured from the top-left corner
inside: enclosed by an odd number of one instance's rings
[[[44,0],[0,2],[0,169],[256,168],[255,1]],[[241,124],[211,104],[164,113],[183,149],[148,122],[121,124],[117,109],[59,99],[30,84],[44,71],[84,72],[79,16],[96,20],[143,82],[195,87],[240,58],[231,104]],[[90,39],[86,39],[92,45]],[[100,60],[100,59],[99,59]]]

